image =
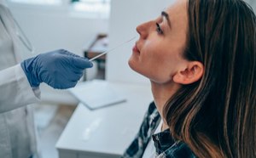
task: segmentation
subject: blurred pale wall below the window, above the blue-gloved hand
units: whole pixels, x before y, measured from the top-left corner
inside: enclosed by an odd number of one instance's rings
[[[71,8],[13,3],[9,3],[9,8],[37,54],[56,48],[82,54],[92,37],[108,32],[108,19],[75,13]]]

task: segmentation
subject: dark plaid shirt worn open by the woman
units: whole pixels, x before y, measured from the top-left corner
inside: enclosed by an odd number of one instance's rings
[[[155,152],[158,158],[195,158],[195,155],[186,144],[181,141],[175,141],[172,138],[169,129],[154,134],[159,123],[160,114],[154,102],[152,102],[149,104],[148,111],[144,116],[136,138],[132,141],[122,158],[143,157],[150,138],[154,140]]]

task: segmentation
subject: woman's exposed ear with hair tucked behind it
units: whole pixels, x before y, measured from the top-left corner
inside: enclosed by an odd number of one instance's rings
[[[185,68],[177,71],[173,81],[180,84],[191,84],[201,79],[204,72],[204,65],[199,61],[189,61]]]

